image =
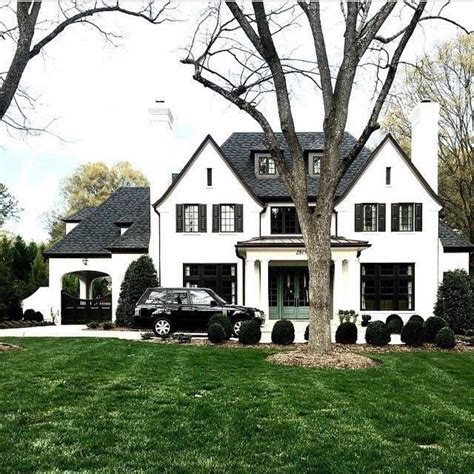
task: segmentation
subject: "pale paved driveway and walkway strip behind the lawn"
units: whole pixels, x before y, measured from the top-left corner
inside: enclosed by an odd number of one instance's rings
[[[272,327],[274,321],[267,322],[262,329],[262,343],[271,342]],[[304,332],[307,322],[294,321],[295,342],[305,342]],[[115,337],[117,339],[140,340],[142,332],[140,331],[95,331],[86,329],[85,325],[66,325],[66,326],[40,326],[32,328],[19,329],[0,329],[0,337]],[[335,340],[337,324],[332,325],[332,340]],[[365,328],[357,326],[358,344],[365,343]],[[147,332],[147,331],[143,331]],[[401,344],[400,335],[392,334],[391,344]]]

